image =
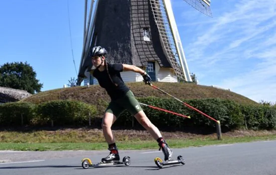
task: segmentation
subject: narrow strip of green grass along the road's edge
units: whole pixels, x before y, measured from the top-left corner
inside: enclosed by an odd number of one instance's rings
[[[222,140],[217,140],[214,137],[194,138],[194,139],[167,139],[167,142],[172,148],[181,148],[189,146],[204,146],[211,144],[227,144],[235,142],[249,142],[257,140],[274,140],[276,135],[264,136],[244,136],[244,137],[224,137]],[[155,140],[127,140],[117,141],[119,149],[158,149]],[[1,150],[105,150],[107,144],[105,142],[2,142],[0,143]]]

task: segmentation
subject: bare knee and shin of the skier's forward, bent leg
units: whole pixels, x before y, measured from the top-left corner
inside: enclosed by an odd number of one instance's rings
[[[115,122],[116,116],[113,113],[105,112],[104,117],[102,119],[102,131],[104,138],[108,144],[114,143],[115,138],[113,136],[111,126]]]

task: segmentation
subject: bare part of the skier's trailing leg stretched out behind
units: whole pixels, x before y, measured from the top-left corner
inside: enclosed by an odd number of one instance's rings
[[[134,116],[137,121],[139,121],[139,123],[142,124],[155,139],[162,137],[160,130],[150,121],[143,110],[139,111]]]

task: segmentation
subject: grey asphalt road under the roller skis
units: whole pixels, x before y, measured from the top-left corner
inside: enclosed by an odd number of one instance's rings
[[[276,140],[173,149],[174,158],[183,155],[186,164],[156,166],[154,158],[163,158],[158,150],[120,151],[130,156],[129,166],[102,166],[83,169],[81,159],[97,162],[108,151],[0,151],[0,174],[276,174]],[[26,162],[24,162],[26,161]]]

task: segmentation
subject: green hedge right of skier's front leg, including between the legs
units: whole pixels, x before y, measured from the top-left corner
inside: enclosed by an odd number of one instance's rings
[[[137,98],[140,102],[168,109],[177,113],[190,115],[184,118],[164,111],[142,106],[150,120],[159,128],[206,128],[214,130],[216,122],[207,116],[191,109],[183,103],[169,98],[147,97]],[[232,100],[225,99],[190,99],[184,102],[199,109],[212,118],[219,120],[223,130],[238,128],[248,129],[275,129],[276,128],[276,106],[267,105],[244,105]],[[131,126],[132,117],[128,111],[121,113],[116,126]],[[140,124],[134,118],[134,125]]]

